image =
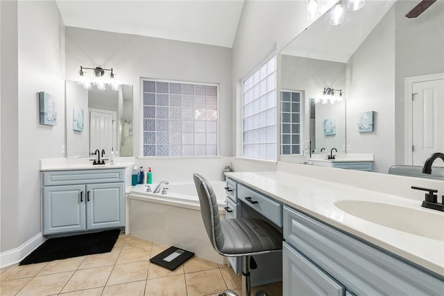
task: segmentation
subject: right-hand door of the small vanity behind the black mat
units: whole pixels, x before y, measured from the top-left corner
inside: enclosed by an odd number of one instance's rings
[[[124,183],[89,184],[86,190],[88,230],[125,226]]]

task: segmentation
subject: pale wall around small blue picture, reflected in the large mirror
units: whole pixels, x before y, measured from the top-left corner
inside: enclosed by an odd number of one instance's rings
[[[373,153],[374,172],[395,164],[395,9],[388,11],[346,63],[347,144]],[[375,131],[359,133],[359,113],[375,111]]]

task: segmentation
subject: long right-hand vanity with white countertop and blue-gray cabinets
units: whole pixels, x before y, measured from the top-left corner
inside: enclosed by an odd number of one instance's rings
[[[432,233],[409,227],[400,231],[386,227],[392,225],[391,219],[399,219],[396,215],[380,222],[386,223],[384,226],[369,222],[368,217],[350,215],[338,205],[357,200],[357,205],[373,203],[387,206],[389,211],[390,206],[400,206],[402,211],[423,212],[422,217],[432,215],[433,222],[441,225],[444,215],[423,210],[401,197],[283,172],[226,175],[228,187],[237,188],[243,206],[282,227],[284,295],[443,294],[442,227],[436,226]]]

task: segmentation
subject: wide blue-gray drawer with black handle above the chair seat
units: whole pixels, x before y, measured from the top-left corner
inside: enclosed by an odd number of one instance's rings
[[[237,198],[278,227],[282,227],[282,204],[241,184],[237,184]]]

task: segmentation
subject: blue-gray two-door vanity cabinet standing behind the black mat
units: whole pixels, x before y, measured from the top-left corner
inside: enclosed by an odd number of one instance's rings
[[[44,235],[125,226],[125,170],[42,172]]]

